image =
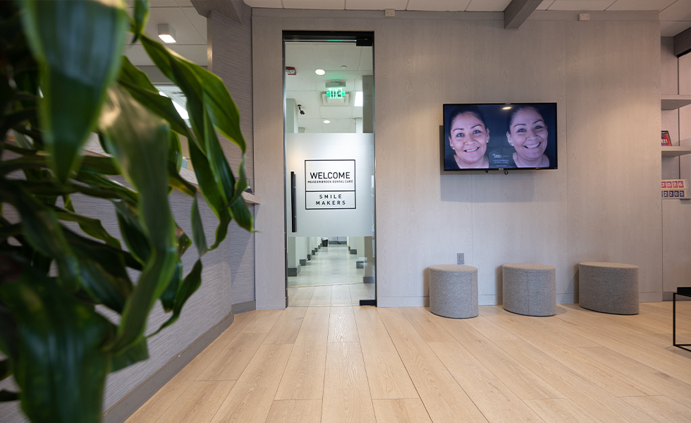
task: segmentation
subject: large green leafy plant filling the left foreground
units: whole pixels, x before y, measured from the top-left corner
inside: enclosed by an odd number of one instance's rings
[[[148,7],[135,0],[130,17],[121,0],[0,1],[0,379],[20,388],[0,400],[20,400],[35,423],[99,422],[106,374],[148,357],[154,303],[171,312],[161,331],[228,223],[252,231],[244,155],[236,180],[216,135],[244,154],[238,108],[216,75],[142,32]],[[191,128],[122,56],[128,32],[185,93]],[[85,154],[93,133],[109,157]],[[212,245],[180,175],[181,135],[219,219]],[[194,199],[191,239],[171,214],[173,189]],[[75,193],[111,202],[126,246],[79,214]],[[200,259],[183,277],[192,240]]]

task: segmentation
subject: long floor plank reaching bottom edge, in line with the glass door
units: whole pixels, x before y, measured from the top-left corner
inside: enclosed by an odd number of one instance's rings
[[[376,422],[360,343],[330,342],[326,348],[322,423],[331,422]]]

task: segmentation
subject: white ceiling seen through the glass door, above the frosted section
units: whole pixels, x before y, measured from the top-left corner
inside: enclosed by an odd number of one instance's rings
[[[355,118],[362,118],[362,107],[353,106],[355,91],[362,91],[362,76],[372,75],[372,47],[353,43],[286,43],[286,66],[296,75],[286,75],[286,99],[295,99],[304,115],[298,114],[298,127],[305,133],[355,133]],[[345,68],[343,68],[345,66]],[[314,73],[326,71],[324,75]],[[343,81],[350,94],[349,104],[324,106],[326,82]],[[324,120],[330,123],[324,123]]]

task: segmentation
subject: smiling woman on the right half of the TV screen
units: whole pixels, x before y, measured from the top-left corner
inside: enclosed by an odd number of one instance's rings
[[[547,125],[533,106],[520,106],[508,116],[508,143],[515,148],[513,161],[519,168],[549,167]]]

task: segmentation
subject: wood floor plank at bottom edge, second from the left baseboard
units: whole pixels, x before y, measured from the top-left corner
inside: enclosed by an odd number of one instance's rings
[[[235,381],[195,381],[157,423],[209,423]]]

